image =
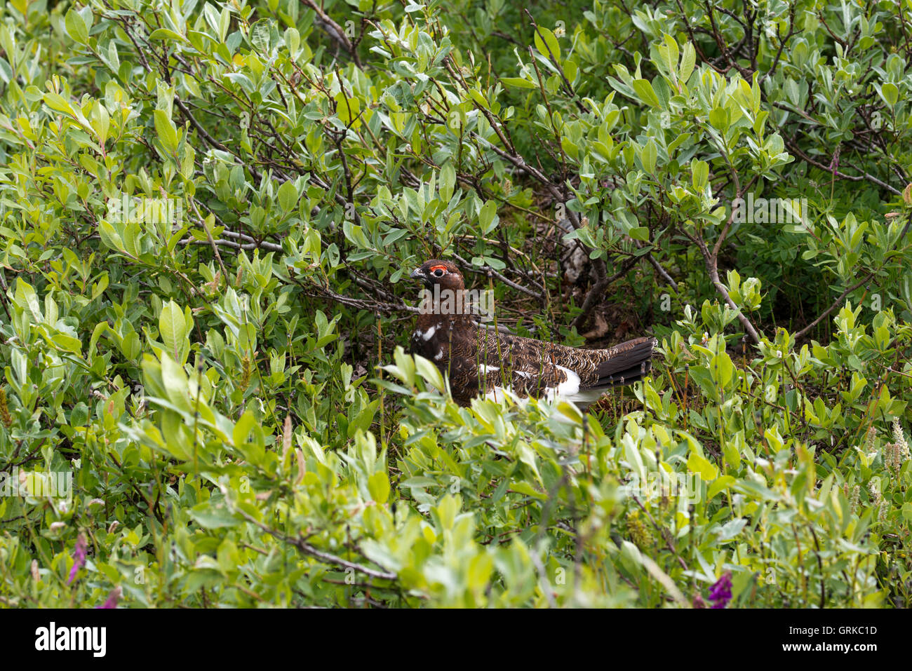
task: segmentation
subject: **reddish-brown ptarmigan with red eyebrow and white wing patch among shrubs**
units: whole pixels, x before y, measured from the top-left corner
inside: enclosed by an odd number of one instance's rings
[[[612,387],[642,380],[651,368],[654,337],[581,349],[513,336],[480,323],[455,263],[431,259],[410,276],[424,285],[411,353],[450,378],[453,400],[461,406],[509,389],[516,397],[563,399],[585,409]]]

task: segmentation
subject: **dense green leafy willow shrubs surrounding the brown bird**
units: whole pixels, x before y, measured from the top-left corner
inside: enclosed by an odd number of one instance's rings
[[[0,603],[907,606],[912,0],[0,11]]]

